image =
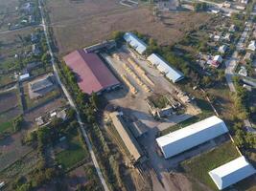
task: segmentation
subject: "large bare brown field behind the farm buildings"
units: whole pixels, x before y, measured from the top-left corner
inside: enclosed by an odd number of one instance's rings
[[[67,0],[64,3],[57,0],[49,2],[59,52],[67,53],[105,40],[113,31],[136,30],[149,34],[161,44],[173,44],[186,31],[207,22],[210,17],[204,13],[172,12],[156,18],[149,7],[130,9],[120,6],[117,1],[109,0],[81,4],[70,4]]]

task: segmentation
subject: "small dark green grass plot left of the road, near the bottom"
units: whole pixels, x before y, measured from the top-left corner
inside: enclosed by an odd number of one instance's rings
[[[61,164],[65,170],[86,158],[88,158],[88,153],[82,147],[79,136],[68,139],[68,148],[56,155],[58,163]]]

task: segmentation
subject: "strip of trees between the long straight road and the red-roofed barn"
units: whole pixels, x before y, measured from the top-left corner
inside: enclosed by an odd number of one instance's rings
[[[121,38],[123,34],[117,33],[118,38]],[[120,39],[121,40],[121,39]],[[62,63],[64,65],[64,63]],[[97,111],[100,108],[100,99],[96,93],[92,93],[91,96],[83,94],[77,85],[76,76],[68,69],[68,67],[62,68],[62,77],[64,78],[65,83],[67,83],[67,87],[70,89],[72,93],[76,105],[81,113],[81,118],[83,121],[87,123],[87,133],[89,135],[90,140],[93,143],[93,146],[97,149],[94,151],[98,156],[99,163],[101,165],[101,169],[105,175],[105,179],[107,180],[111,190],[120,190],[120,186],[122,187],[122,180],[120,179],[120,170],[116,156],[113,155],[113,150],[109,148],[107,139],[105,138],[104,133],[99,128],[97,124]],[[90,187],[91,184],[85,185],[85,190]],[[97,187],[93,190],[97,190]],[[84,186],[82,187],[84,189]],[[89,189],[89,188],[88,188]]]

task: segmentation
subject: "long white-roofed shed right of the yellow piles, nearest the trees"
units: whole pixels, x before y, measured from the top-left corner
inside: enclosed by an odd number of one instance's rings
[[[152,65],[156,66],[161,73],[166,74],[166,77],[174,83],[184,78],[184,75],[181,72],[171,67],[160,55],[156,53],[152,53],[147,60],[149,60]]]

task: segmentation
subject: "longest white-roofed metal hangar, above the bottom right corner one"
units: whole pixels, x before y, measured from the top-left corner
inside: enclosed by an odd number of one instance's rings
[[[227,132],[228,129],[221,118],[213,116],[156,138],[156,142],[165,159],[168,159]]]

